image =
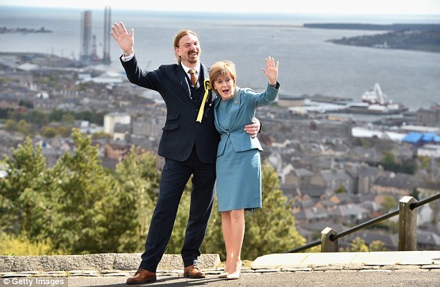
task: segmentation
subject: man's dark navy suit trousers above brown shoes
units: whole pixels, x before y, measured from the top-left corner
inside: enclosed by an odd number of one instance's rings
[[[180,198],[191,175],[193,175],[191,206],[181,254],[185,267],[197,264],[214,204],[216,174],[215,164],[203,164],[198,159],[194,146],[185,162],[165,159],[158,202],[151,218],[145,252],[141,256],[139,268],[156,271],[173,231]]]

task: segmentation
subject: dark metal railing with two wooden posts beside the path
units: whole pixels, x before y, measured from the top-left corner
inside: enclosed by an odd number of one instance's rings
[[[366,221],[365,223],[361,223],[359,225],[356,225],[355,227],[351,227],[350,229],[346,229],[343,232],[339,233],[331,227],[325,227],[325,229],[323,229],[323,231],[321,232],[321,239],[312,241],[300,247],[296,247],[292,250],[287,250],[283,253],[301,252],[318,245],[321,245],[321,252],[338,252],[339,238],[357,232],[366,227],[370,227],[371,225],[375,225],[382,220],[386,220],[397,215],[399,216],[398,250],[416,250],[417,211],[414,209],[438,199],[440,199],[440,193],[419,201],[417,201],[412,196],[404,196],[402,199],[400,199],[399,209],[390,211],[387,214],[378,216],[377,218],[373,218]]]

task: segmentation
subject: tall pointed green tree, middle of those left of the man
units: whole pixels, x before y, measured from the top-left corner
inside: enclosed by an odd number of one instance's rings
[[[46,234],[56,248],[74,254],[106,252],[112,238],[108,237],[105,208],[115,181],[99,165],[98,150],[90,145],[90,138],[77,129],[72,138],[74,154],[65,153],[51,171],[56,186],[49,195],[53,217]]]

